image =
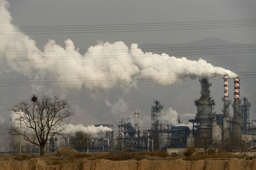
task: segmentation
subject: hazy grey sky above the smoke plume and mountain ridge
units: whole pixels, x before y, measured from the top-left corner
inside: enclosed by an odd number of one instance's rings
[[[17,26],[99,25],[254,19],[255,0],[8,0]],[[38,48],[48,39],[58,44],[70,38],[76,47],[95,45],[97,40],[131,43],[186,43],[216,37],[247,44],[256,43],[255,27],[177,31],[31,35]]]

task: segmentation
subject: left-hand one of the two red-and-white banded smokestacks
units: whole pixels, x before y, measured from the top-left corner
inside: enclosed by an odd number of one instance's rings
[[[228,75],[224,75],[224,97],[223,101],[223,118],[222,118],[222,137],[224,140],[228,140],[230,137],[230,117],[229,117],[229,95],[228,95]]]

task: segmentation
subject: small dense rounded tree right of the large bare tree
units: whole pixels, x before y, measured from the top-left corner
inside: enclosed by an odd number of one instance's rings
[[[91,145],[91,135],[83,131],[76,131],[75,135],[70,137],[70,144],[77,151],[82,152],[84,148],[90,147]]]

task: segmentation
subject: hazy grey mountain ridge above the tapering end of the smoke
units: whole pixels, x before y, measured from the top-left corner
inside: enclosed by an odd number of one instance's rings
[[[221,40],[215,37],[208,37],[199,41],[192,41],[184,44],[142,44],[144,52],[153,52],[157,54],[167,53],[171,56],[187,57],[190,60],[198,60],[199,58],[205,59],[207,62],[215,66],[224,67],[226,69],[234,70],[234,65],[238,70],[253,69],[256,64],[255,53],[248,53],[249,49],[256,48],[230,48],[229,45],[244,45],[243,43],[233,43],[226,40]],[[205,47],[205,46],[220,46],[220,47]],[[179,48],[175,48],[179,47]],[[180,48],[180,47],[199,47],[199,48]],[[150,48],[166,48],[156,49],[154,51]],[[167,49],[168,48],[168,49]],[[174,48],[174,49],[173,49]],[[207,49],[206,49],[207,48]],[[214,49],[215,48],[215,49]],[[159,51],[161,50],[161,51]],[[241,51],[245,50],[245,51]],[[203,53],[204,52],[204,53]],[[245,52],[245,53],[244,53]],[[212,54],[212,53],[232,53],[232,54]],[[205,55],[202,55],[205,54]]]

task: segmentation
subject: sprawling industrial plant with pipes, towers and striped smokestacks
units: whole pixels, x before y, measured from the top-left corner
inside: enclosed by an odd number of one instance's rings
[[[233,79],[233,78],[232,78]],[[117,124],[118,135],[114,136],[113,125],[97,124],[95,127],[108,127],[108,131],[100,131],[92,135],[90,147],[84,152],[110,151],[156,151],[170,148],[209,148],[233,151],[241,149],[242,145],[248,149],[255,148],[256,120],[250,120],[251,103],[244,96],[240,97],[240,79],[234,78],[234,101],[229,98],[229,76],[224,76],[224,95],[222,97],[222,114],[214,112],[215,102],[211,96],[211,83],[208,78],[199,79],[201,96],[194,100],[197,112],[194,119],[188,120],[192,128],[164,124],[160,120],[164,108],[158,99],[153,100],[151,106],[151,128],[140,129],[140,109],[135,109],[133,118],[122,118]],[[233,107],[231,114],[229,108]],[[230,117],[233,115],[233,117]],[[12,137],[12,140],[15,137]],[[52,135],[48,138],[46,151],[56,152],[60,147],[69,146],[69,137]]]

